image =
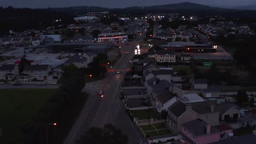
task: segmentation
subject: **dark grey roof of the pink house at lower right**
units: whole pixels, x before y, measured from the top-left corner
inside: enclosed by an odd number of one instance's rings
[[[195,136],[202,136],[206,135],[206,127],[207,123],[201,119],[196,119],[194,121],[189,121],[187,123],[181,124],[184,128],[186,128],[188,131],[190,131]],[[219,133],[217,128],[210,126],[210,133]]]

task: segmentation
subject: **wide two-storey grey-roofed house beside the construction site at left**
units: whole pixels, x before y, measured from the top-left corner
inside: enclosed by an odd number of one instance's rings
[[[25,65],[23,73],[18,75],[18,79],[20,81],[47,80],[49,72],[52,72],[50,65]]]

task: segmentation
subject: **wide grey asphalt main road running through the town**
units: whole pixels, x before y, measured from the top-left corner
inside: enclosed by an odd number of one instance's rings
[[[137,37],[137,42],[131,42],[130,45],[119,44],[121,46],[121,57],[117,60],[113,69],[110,69],[106,75],[107,78],[98,82],[86,84],[84,92],[90,93],[90,97],[81,115],[73,124],[69,135],[64,144],[76,144],[76,140],[92,126],[103,127],[104,124],[111,123],[117,128],[121,128],[124,134],[128,135],[129,144],[142,144],[146,140],[141,132],[130,120],[125,112],[125,107],[120,100],[120,83],[123,81],[125,72],[131,68],[129,60],[134,56],[135,47],[138,41],[143,40],[143,35]],[[125,54],[128,52],[128,54]],[[117,71],[121,70],[121,74]],[[98,91],[104,92],[104,97],[97,95]]]

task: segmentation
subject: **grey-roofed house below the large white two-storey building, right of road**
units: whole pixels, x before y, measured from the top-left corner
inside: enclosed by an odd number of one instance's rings
[[[160,69],[160,70],[148,69],[144,71],[144,76],[146,80],[156,77],[160,80],[166,80],[168,82],[171,82],[171,74],[172,74],[172,70],[168,70],[168,69]]]

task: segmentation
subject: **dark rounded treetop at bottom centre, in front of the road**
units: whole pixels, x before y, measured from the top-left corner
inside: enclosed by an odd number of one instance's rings
[[[79,144],[127,144],[128,137],[114,125],[105,124],[104,128],[92,127],[85,131],[77,141]]]

